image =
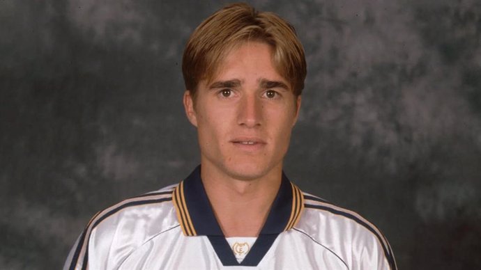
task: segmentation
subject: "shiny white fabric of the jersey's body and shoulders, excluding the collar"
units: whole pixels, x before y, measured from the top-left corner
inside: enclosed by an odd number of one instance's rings
[[[314,199],[305,199],[300,221],[278,235],[257,266],[224,267],[208,237],[183,235],[171,190],[172,186],[100,212],[63,269],[395,269],[383,251],[384,246],[390,253],[389,245],[374,226],[360,225],[365,220],[356,213]]]

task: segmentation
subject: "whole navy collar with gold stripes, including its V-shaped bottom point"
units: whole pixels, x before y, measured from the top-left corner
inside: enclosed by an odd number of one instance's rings
[[[185,180],[178,184],[174,190],[172,201],[176,207],[177,219],[181,224],[183,234],[185,236],[207,236],[224,266],[256,266],[272,246],[277,235],[293,228],[300,219],[304,209],[303,193],[282,173],[280,188],[270,208],[266,223],[250,252],[247,253],[243,262],[238,264],[217,219],[215,219],[211,202],[209,202],[204,184],[202,184],[200,171],[200,166],[197,166]]]

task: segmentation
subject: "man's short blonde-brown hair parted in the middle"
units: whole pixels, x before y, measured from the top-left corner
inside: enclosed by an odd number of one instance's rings
[[[289,81],[294,95],[300,95],[307,67],[296,30],[275,13],[257,12],[247,3],[217,10],[190,35],[182,60],[185,88],[195,97],[199,81],[211,81],[229,51],[249,40],[272,47],[277,72]]]

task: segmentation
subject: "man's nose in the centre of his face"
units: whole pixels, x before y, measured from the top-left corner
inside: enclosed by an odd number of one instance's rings
[[[256,95],[244,95],[238,104],[238,124],[245,127],[257,127],[262,122],[262,104]]]

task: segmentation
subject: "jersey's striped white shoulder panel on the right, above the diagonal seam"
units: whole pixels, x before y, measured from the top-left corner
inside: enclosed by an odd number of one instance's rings
[[[374,224],[356,212],[310,193],[303,193],[303,196],[304,211],[295,230],[329,248],[351,264],[367,260],[362,257],[366,254],[377,254],[377,257],[369,260],[377,260],[379,264],[387,266],[379,269],[397,269],[388,240]],[[377,263],[372,262],[371,265],[374,264]]]

